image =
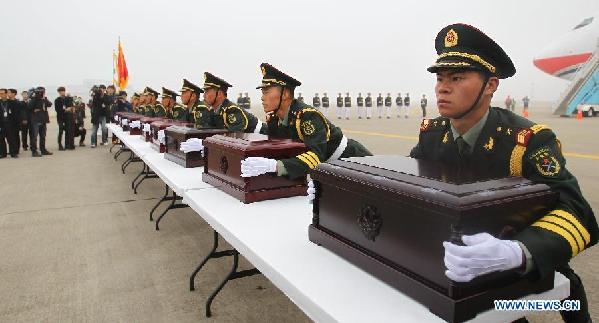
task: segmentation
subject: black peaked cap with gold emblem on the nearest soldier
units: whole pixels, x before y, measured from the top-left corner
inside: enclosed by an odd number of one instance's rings
[[[437,60],[427,70],[460,68],[482,71],[500,79],[516,74],[510,57],[489,36],[466,24],[449,25],[435,39]]]

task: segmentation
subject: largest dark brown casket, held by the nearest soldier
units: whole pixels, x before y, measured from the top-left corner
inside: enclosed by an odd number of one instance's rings
[[[515,270],[455,283],[443,262],[443,241],[461,244],[463,234],[480,232],[509,239],[545,215],[557,199],[545,184],[401,156],[323,163],[310,176],[317,190],[310,241],[449,322],[471,319],[496,299],[553,288],[553,275],[534,281]]]

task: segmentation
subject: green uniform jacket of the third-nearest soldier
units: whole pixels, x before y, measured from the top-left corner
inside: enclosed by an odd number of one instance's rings
[[[225,99],[221,106],[211,112],[211,128],[225,128],[232,132],[259,132],[262,123],[250,112]],[[257,130],[257,131],[256,131]]]

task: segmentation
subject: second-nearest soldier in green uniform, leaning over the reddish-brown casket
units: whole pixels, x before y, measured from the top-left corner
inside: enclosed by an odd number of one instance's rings
[[[320,162],[371,153],[359,142],[348,139],[341,129],[332,124],[315,108],[294,99],[299,81],[262,63],[262,102],[267,114],[267,131],[272,137],[300,140],[308,151],[292,158],[274,160],[248,157],[241,162],[241,176],[251,177],[266,173],[298,178],[306,175]]]

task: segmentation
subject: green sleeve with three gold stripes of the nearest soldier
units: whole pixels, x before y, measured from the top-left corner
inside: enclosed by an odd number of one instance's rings
[[[530,140],[522,158],[522,175],[559,193],[555,208],[516,236],[544,277],[596,244],[599,229],[578,181],[566,169],[566,159],[552,131],[542,130]]]

